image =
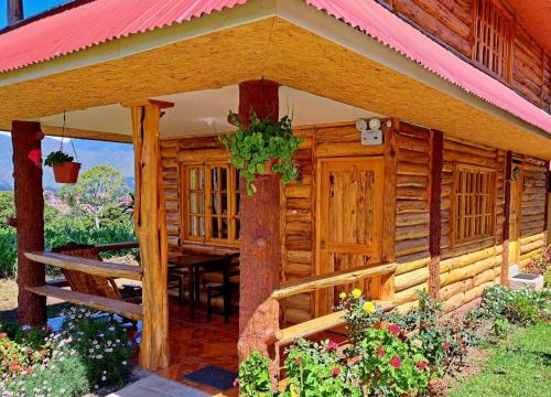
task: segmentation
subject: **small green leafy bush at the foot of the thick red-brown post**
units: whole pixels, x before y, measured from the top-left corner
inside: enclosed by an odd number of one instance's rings
[[[253,352],[239,365],[238,384],[240,396],[271,396],[270,363],[258,352]]]

